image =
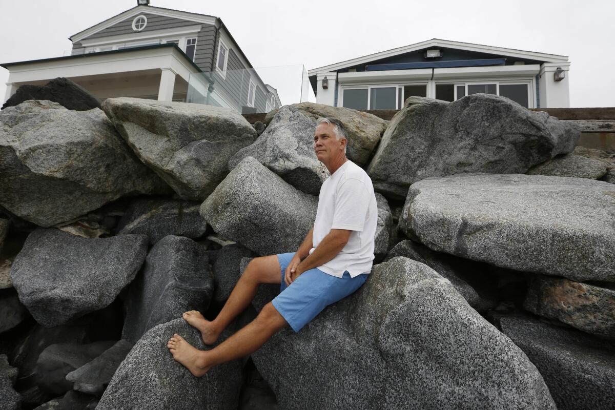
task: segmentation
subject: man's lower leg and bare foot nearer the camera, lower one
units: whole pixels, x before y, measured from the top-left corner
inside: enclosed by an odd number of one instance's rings
[[[212,350],[198,350],[177,333],[171,337],[167,347],[175,360],[194,376],[200,377],[212,366],[256,352],[269,337],[285,325],[287,323],[284,317],[269,302],[255,320]]]

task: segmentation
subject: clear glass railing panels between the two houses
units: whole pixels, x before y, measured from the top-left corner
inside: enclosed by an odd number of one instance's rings
[[[316,97],[303,65],[191,74],[186,95],[187,103],[229,107],[242,114],[304,101],[315,102]]]

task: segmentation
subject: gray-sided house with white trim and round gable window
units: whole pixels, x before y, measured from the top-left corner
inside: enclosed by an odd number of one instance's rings
[[[137,6],[69,37],[71,55],[2,63],[9,70],[6,99],[20,85],[67,77],[95,97],[199,102],[240,112],[280,106],[220,18]]]

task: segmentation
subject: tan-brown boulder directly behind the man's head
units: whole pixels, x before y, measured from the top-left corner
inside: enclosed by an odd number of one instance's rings
[[[361,166],[367,165],[371,152],[376,149],[376,145],[378,145],[378,141],[380,141],[380,137],[387,127],[387,121],[373,114],[355,109],[331,107],[316,103],[298,103],[292,104],[290,107],[300,110],[303,114],[314,120],[321,117],[340,120],[348,133],[346,156],[352,162]],[[270,124],[277,112],[277,109],[268,112],[265,117],[266,124]]]

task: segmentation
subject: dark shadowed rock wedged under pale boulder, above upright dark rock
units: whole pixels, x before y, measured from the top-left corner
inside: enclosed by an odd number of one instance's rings
[[[119,234],[148,235],[152,245],[167,235],[198,238],[207,222],[199,214],[199,202],[140,199],[130,203],[120,220]]]

